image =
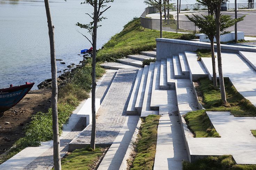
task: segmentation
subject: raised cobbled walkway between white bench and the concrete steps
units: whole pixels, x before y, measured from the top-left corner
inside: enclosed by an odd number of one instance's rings
[[[110,146],[125,122],[125,112],[129,103],[138,68],[119,69],[106,97],[104,98],[96,120],[96,145]],[[72,151],[90,144],[91,125],[87,126],[69,144]]]

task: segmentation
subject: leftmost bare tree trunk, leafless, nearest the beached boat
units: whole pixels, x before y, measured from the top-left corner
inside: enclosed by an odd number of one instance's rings
[[[45,0],[45,10],[48,23],[48,33],[50,40],[51,50],[51,71],[52,71],[52,117],[53,117],[53,161],[54,169],[61,170],[61,156],[60,156],[60,134],[59,134],[59,121],[58,121],[58,86],[57,86],[57,67],[56,67],[56,56],[54,46],[54,26],[52,24],[52,17],[49,7],[49,1]]]

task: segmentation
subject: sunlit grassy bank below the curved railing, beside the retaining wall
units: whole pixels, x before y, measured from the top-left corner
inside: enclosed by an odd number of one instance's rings
[[[181,34],[163,32],[164,38],[179,39]],[[104,48],[97,53],[97,61],[115,61],[127,55],[137,54],[156,48],[156,38],[160,31],[144,29],[140,26],[140,18],[134,18],[124,26],[123,31],[111,37]]]

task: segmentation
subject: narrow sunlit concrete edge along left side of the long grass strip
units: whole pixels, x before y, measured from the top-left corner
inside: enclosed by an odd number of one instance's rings
[[[135,145],[134,142],[136,142],[137,138],[138,138],[138,134],[139,134],[139,130],[140,130],[140,126],[141,126],[141,119],[139,119],[137,127],[132,135],[132,139],[131,142],[126,150],[126,153],[124,155],[124,159],[122,161],[122,164],[119,168],[119,170],[126,170],[128,168],[127,165],[127,160],[130,158],[131,152],[135,149]]]

